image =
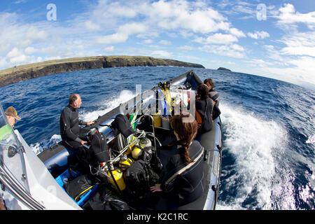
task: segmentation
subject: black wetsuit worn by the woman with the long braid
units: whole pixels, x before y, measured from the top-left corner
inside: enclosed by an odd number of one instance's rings
[[[177,149],[178,152],[183,148]],[[193,141],[190,145],[189,155],[191,160],[195,160],[198,155],[203,155],[204,148],[200,145],[199,141]],[[186,169],[180,175],[177,175],[174,181],[171,181],[169,185],[165,185],[165,182],[176,172],[183,167],[186,167],[189,163],[186,163],[179,153],[172,155],[167,162],[166,171],[162,178],[161,189],[164,199],[178,206],[188,204],[197,200],[204,191],[204,169],[203,169],[203,156],[195,162],[195,164]],[[164,207],[162,209],[169,209]]]

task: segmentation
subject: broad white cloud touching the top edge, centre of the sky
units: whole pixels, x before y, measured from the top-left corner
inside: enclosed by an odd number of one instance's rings
[[[121,16],[124,16],[123,19],[141,17],[144,24],[153,28],[185,29],[202,34],[230,27],[227,18],[202,1],[100,1],[91,14],[99,23],[110,20],[115,24]]]

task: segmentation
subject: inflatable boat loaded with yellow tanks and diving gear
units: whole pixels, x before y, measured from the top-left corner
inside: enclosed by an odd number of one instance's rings
[[[8,209],[129,209],[153,210],[158,198],[144,185],[130,182],[130,167],[141,164],[153,171],[145,175],[158,183],[174,153],[174,134],[169,118],[181,111],[195,115],[197,86],[202,80],[194,71],[158,83],[151,90],[120,104],[94,120],[87,131],[87,146],[80,153],[83,165],[71,165],[69,146],[61,141],[35,155],[18,130],[8,125],[3,109],[0,118],[1,198]],[[0,106],[1,107],[1,106]],[[126,118],[132,134],[125,136],[114,123]],[[204,192],[178,210],[216,208],[221,176],[223,134],[221,118],[211,131],[197,135],[204,148]],[[116,127],[116,128],[115,128]],[[120,132],[121,131],[121,132]],[[101,136],[105,144],[96,152],[92,143]],[[102,154],[103,153],[103,154]],[[102,160],[98,154],[102,154]],[[72,160],[71,160],[72,161]],[[129,175],[129,176],[128,176]],[[157,177],[158,176],[158,177]],[[155,179],[155,182],[153,181]],[[128,181],[129,180],[129,181]],[[143,180],[142,180],[143,181]],[[133,188],[132,190],[130,190]]]

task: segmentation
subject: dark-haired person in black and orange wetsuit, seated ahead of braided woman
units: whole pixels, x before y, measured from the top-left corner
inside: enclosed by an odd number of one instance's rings
[[[198,124],[198,133],[209,132],[214,127],[212,121],[212,111],[214,102],[209,97],[209,89],[207,85],[200,84],[197,87],[197,96],[195,102],[196,120]]]

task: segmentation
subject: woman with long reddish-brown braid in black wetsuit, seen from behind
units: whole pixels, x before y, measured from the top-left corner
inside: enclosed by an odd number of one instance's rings
[[[179,147],[167,162],[161,184],[151,187],[153,193],[162,193],[156,209],[178,209],[197,200],[204,190],[204,148],[199,141],[193,140],[197,134],[197,121],[184,112],[173,116],[170,123]]]

